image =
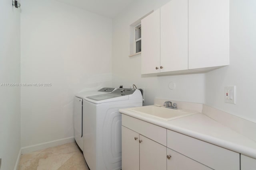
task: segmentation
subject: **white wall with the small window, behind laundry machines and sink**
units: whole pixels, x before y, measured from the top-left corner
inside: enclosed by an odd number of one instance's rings
[[[113,85],[118,87],[122,84],[125,88],[130,88],[132,84],[136,84],[137,87],[145,87],[144,105],[153,104],[156,97],[204,103],[204,74],[141,76],[140,55],[128,57],[130,55],[130,24],[169,1],[136,1],[136,5],[132,4],[114,18],[112,31]],[[174,90],[168,88],[169,82],[176,83]]]

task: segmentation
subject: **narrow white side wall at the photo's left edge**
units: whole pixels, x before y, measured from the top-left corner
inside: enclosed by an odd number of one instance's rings
[[[20,9],[0,1],[0,84],[20,83]],[[0,86],[1,170],[14,169],[20,151],[20,87]]]

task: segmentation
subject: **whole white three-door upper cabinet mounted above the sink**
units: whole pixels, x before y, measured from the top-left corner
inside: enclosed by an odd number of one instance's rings
[[[229,65],[229,0],[171,0],[141,25],[142,74]]]

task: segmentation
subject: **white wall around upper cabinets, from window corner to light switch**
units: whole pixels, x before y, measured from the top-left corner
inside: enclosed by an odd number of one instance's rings
[[[205,103],[233,115],[256,122],[256,1],[230,1],[230,65],[206,74],[141,76],[140,55],[129,55],[129,25],[170,0],[140,0],[113,20],[113,84],[118,87],[145,87],[145,104],[154,98]],[[143,28],[142,28],[143,29]],[[142,40],[143,41],[143,40]],[[176,89],[168,88],[169,82]],[[236,85],[237,104],[224,103],[224,86]]]

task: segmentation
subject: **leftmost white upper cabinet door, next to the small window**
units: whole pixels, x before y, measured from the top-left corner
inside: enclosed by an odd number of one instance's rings
[[[160,72],[160,10],[141,20],[141,74]]]

